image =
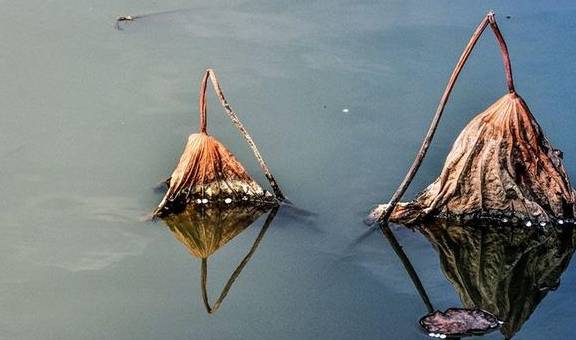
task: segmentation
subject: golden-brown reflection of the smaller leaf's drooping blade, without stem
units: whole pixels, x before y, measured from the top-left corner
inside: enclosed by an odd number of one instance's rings
[[[168,215],[164,222],[192,255],[207,258],[267,210],[262,206],[187,206],[179,214]]]

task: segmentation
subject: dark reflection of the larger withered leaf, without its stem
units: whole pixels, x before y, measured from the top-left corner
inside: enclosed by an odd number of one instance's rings
[[[542,233],[434,224],[419,230],[438,249],[442,270],[464,306],[496,315],[508,338],[558,286],[575,249],[572,228]]]

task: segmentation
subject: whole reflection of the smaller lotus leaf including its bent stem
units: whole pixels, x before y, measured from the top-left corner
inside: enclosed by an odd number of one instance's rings
[[[232,284],[234,284],[242,269],[248,264],[260,241],[264,238],[268,227],[272,224],[278,211],[278,206],[274,206],[268,213],[266,221],[252,247],[226,282],[214,305],[210,305],[208,300],[208,257],[228,243],[228,241],[238,236],[269,209],[269,206],[208,206],[199,208],[198,206],[189,205],[180,214],[169,215],[164,218],[164,222],[166,222],[174,236],[186,246],[193,256],[201,259],[202,299],[208,313],[215,313],[220,308]]]

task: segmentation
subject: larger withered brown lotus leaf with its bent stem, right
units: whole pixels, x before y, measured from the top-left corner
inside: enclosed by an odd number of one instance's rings
[[[504,60],[508,94],[478,114],[461,132],[440,177],[415,200],[400,203],[432,141],[452,88],[478,38],[490,25]],[[494,13],[482,20],[466,46],[442,96],[432,125],[406,178],[390,202],[368,222],[414,224],[427,218],[513,219],[547,223],[573,218],[576,193],[552,147],[516,93],[510,58]]]

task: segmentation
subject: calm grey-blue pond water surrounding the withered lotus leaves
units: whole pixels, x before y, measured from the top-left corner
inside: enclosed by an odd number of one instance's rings
[[[0,4],[0,339],[425,339],[426,306],[390,243],[362,219],[402,179],[489,9],[518,92],[576,178],[571,0]],[[118,15],[163,11],[113,28]],[[278,212],[213,315],[201,261],[164,223],[142,221],[198,128],[207,67],[287,196],[314,213]],[[406,198],[438,175],[474,113],[504,93],[486,35]],[[209,132],[265,184],[211,96]],[[212,301],[264,219],[210,257]],[[434,307],[462,306],[460,281],[441,266],[450,248],[433,246],[445,244],[439,236],[393,231]],[[532,300],[515,338],[573,338],[576,262],[559,259],[569,250],[545,264],[567,266],[557,290],[517,294],[513,306]]]

